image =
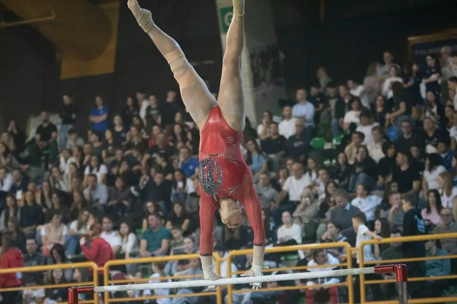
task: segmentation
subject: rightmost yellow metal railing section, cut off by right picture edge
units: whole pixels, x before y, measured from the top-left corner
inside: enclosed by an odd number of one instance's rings
[[[389,243],[405,243],[405,242],[417,242],[417,241],[428,241],[428,240],[439,240],[439,239],[454,239],[457,238],[457,233],[446,233],[446,234],[432,234],[432,235],[421,235],[413,237],[399,237],[399,238],[386,238],[381,241],[369,240],[364,241],[360,244],[360,247],[356,248],[359,256],[359,265],[360,267],[371,266],[373,264],[392,264],[392,263],[406,263],[416,262],[416,261],[426,261],[426,260],[435,260],[435,259],[452,259],[457,258],[457,255],[446,255],[446,256],[423,256],[423,257],[413,257],[413,258],[400,258],[400,259],[389,259],[389,260],[377,260],[377,261],[364,261],[364,246],[373,245],[373,244],[389,244]],[[348,255],[349,256],[349,255]],[[457,275],[449,276],[437,276],[437,277],[415,277],[408,278],[409,282],[417,281],[429,281],[429,280],[447,280],[447,279],[457,279]],[[360,301],[361,303],[376,303],[376,304],[394,304],[398,301],[366,301],[366,292],[365,285],[368,284],[381,284],[381,283],[395,283],[396,280],[365,280],[365,275],[360,275]],[[416,298],[410,299],[408,303],[442,303],[442,302],[455,302],[457,301],[457,296],[446,296],[446,297],[437,297],[437,298]]]

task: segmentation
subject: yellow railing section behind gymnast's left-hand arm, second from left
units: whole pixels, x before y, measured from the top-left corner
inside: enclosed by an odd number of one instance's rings
[[[221,258],[216,253],[213,254],[213,258],[215,261],[216,273],[220,274],[220,261]],[[142,258],[135,258],[135,259],[121,259],[121,260],[111,260],[105,264],[104,267],[104,285],[108,286],[110,284],[125,284],[125,283],[146,283],[151,281],[149,278],[134,278],[134,279],[124,279],[124,280],[110,280],[110,267],[115,265],[127,265],[127,264],[145,264],[145,263],[157,263],[157,262],[168,262],[168,261],[175,261],[175,260],[188,260],[188,259],[199,259],[200,254],[193,253],[193,254],[180,254],[180,255],[168,255],[168,256],[153,256],[153,257],[142,257]],[[154,278],[154,280],[182,280],[182,279],[189,279],[189,278],[201,278],[203,275],[186,275],[186,276],[179,276],[179,277],[160,277]],[[166,296],[159,296],[159,295],[151,295],[151,296],[140,296],[140,297],[123,297],[123,298],[111,298],[109,297],[109,293],[105,292],[104,294],[104,303],[112,303],[112,302],[129,302],[129,301],[143,301],[149,299],[160,299],[160,298],[175,298],[175,297],[187,297],[187,296],[202,296],[202,295],[215,295],[217,298],[217,304],[222,304],[222,290],[220,286],[217,287],[216,291],[214,292],[198,292],[198,293],[188,293],[188,294],[170,294]]]

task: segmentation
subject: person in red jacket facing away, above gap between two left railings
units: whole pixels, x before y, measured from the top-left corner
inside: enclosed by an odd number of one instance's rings
[[[100,237],[102,226],[93,223],[89,227],[89,240],[82,237],[79,241],[81,250],[89,261],[95,262],[101,269],[99,271],[99,283],[103,282],[103,267],[109,260],[115,259],[111,245]],[[102,281],[101,281],[102,280]]]

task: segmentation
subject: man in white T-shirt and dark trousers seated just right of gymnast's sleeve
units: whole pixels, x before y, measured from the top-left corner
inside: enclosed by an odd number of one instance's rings
[[[287,177],[278,199],[271,208],[275,223],[277,224],[281,224],[281,216],[284,211],[290,213],[295,211],[297,205],[300,203],[303,189],[312,184],[311,178],[303,174],[303,165],[301,163],[294,163],[291,171],[292,175]],[[282,203],[287,195],[289,195],[289,200]]]

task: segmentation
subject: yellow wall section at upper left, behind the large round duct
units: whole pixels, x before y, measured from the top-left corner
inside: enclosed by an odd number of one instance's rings
[[[105,52],[101,56],[89,61],[76,61],[63,53],[60,63],[60,79],[95,76],[114,72],[119,5],[119,1],[100,5],[100,8],[108,16],[111,24],[111,39]]]

